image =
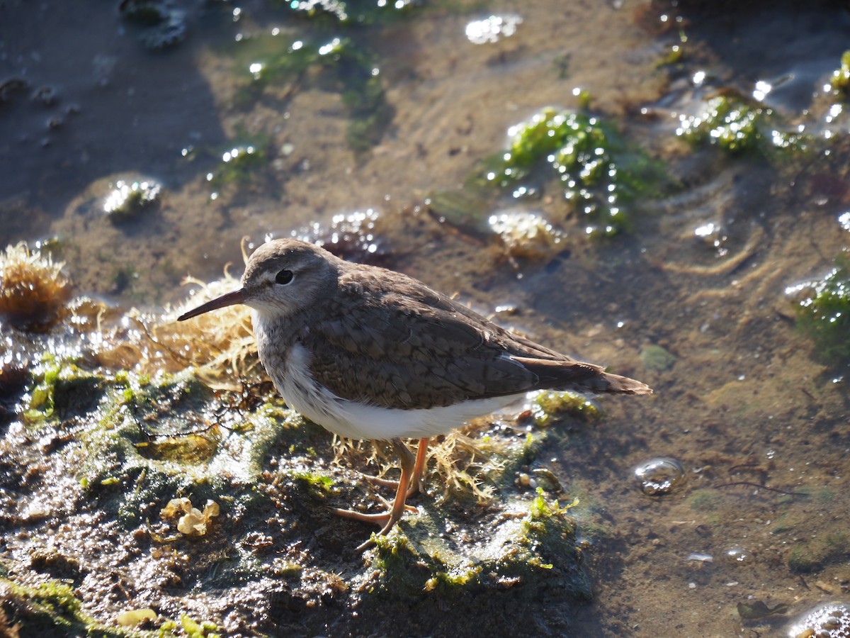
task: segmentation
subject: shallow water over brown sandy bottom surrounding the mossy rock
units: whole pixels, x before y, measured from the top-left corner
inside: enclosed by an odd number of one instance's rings
[[[540,0],[425,4],[343,27],[265,3],[180,9],[184,41],[153,52],[114,7],[0,9],[0,80],[23,81],[0,101],[0,241],[55,236],[77,293],[159,311],[186,296],[186,274],[240,271],[242,236],[262,242],[372,209],[387,265],[487,314],[511,306],[497,320],[655,388],[648,400],[604,398],[605,419],[541,453],[581,499],[571,513],[592,541],[595,600],[576,635],[785,635],[792,617],[847,601],[847,367],[819,361],[785,295],[850,245],[838,221],[847,125],[829,121],[822,88],[847,14],[825,4],[719,19],[686,8],[677,22],[660,3]],[[467,25],[490,14],[522,21],[471,42]],[[334,37],[350,37],[368,64],[280,71],[262,90],[252,80],[252,64],[291,46],[281,42]],[[664,66],[674,46],[685,54]],[[370,65],[381,117],[355,136],[357,150],[352,122],[369,98],[349,75]],[[677,139],[678,113],[729,88],[749,95],[759,80],[779,87],[768,104],[792,125],[833,132],[829,155],[766,162]],[[513,124],[547,105],[577,108],[576,87],[672,174],[636,207],[631,233],[588,241],[546,174],[530,178],[536,198],[473,193],[480,208],[429,212],[423,202],[461,189]],[[231,170],[224,153],[249,146],[257,162]],[[157,202],[108,219],[117,179],[155,181]],[[511,209],[549,220],[558,248],[509,256],[483,219]],[[685,479],[648,496],[633,470],[658,457]],[[742,618],[753,601],[791,609]]]

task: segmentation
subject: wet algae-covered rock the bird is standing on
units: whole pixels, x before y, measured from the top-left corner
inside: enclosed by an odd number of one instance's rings
[[[232,286],[225,276],[187,305]],[[361,554],[373,530],[331,508],[379,506],[363,474],[391,459],[380,445],[335,442],[283,405],[246,309],[189,325],[173,322],[178,310],[67,308],[55,332],[14,342],[31,363],[0,438],[0,489],[16,494],[0,517],[29,530],[0,559],[3,609],[20,635],[284,635],[341,623],[496,633],[519,615],[563,633],[590,598],[575,501],[515,480],[543,470],[530,465],[558,419],[595,413],[583,399],[539,401],[535,419],[549,427],[534,444],[492,419],[446,436],[432,449],[430,494],[411,499],[418,515]],[[77,348],[50,354],[59,332]]]

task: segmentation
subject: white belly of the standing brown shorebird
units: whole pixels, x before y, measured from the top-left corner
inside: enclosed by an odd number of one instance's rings
[[[292,347],[284,368],[282,374],[273,374],[273,378],[287,405],[326,430],[353,439],[387,440],[445,434],[469,419],[495,412],[524,396],[496,396],[451,406],[402,410],[348,401],[316,385],[309,375],[309,353],[303,345]]]

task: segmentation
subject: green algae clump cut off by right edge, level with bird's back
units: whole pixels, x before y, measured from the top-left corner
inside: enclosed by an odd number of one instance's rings
[[[842,253],[827,275],[791,289],[807,290],[796,306],[798,328],[813,339],[825,362],[850,360],[850,256]]]

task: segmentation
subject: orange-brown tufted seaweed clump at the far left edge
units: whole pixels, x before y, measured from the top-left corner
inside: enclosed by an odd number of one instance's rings
[[[0,253],[0,321],[21,330],[42,331],[65,315],[71,282],[62,262],[30,250],[25,242]]]

